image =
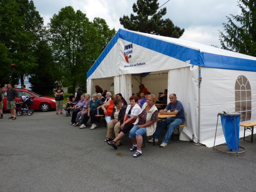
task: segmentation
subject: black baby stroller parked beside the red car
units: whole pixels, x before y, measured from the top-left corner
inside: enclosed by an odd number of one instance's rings
[[[34,102],[29,96],[21,96],[22,102],[15,102],[15,105],[19,107],[16,114],[17,116],[21,116],[23,113],[27,113],[28,115],[32,115],[34,113],[34,109],[29,109],[29,106]]]

